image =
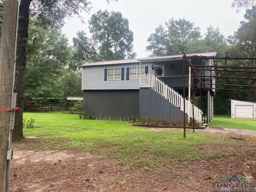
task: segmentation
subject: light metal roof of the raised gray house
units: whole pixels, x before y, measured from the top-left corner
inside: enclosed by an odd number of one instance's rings
[[[192,53],[186,54],[186,56],[202,56],[202,57],[216,57],[217,52],[206,52],[206,53]],[[113,65],[113,64],[125,64],[125,63],[138,63],[138,62],[160,62],[160,61],[171,61],[171,60],[182,60],[182,55],[171,55],[161,57],[149,57],[140,59],[126,59],[126,60],[115,60],[115,61],[100,61],[95,63],[83,64],[82,66],[96,66],[96,65]]]

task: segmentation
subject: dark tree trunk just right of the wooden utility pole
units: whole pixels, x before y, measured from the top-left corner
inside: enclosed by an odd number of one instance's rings
[[[22,140],[23,137],[23,110],[25,92],[26,44],[28,39],[29,7],[32,0],[21,0],[18,27],[18,46],[14,92],[17,93],[16,105],[20,108],[15,114],[12,140]]]

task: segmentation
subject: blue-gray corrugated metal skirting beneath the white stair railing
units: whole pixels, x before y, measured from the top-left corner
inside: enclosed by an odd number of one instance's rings
[[[151,88],[140,88],[139,117],[143,122],[170,125],[183,123],[184,113]],[[188,115],[186,115],[186,122]]]

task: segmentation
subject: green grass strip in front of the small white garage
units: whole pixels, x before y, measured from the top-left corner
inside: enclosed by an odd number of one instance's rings
[[[230,116],[214,115],[214,120],[209,124],[212,127],[230,129],[256,130],[256,120],[236,119]]]

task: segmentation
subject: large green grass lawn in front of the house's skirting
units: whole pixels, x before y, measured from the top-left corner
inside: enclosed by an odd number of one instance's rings
[[[24,128],[24,136],[36,136],[44,148],[81,148],[95,152],[96,158],[112,158],[131,166],[226,156],[224,150],[201,150],[202,145],[232,145],[215,134],[187,131],[183,138],[182,129],[154,131],[122,121],[80,120],[78,115],[61,112],[24,113],[25,117],[35,118],[36,128]]]

